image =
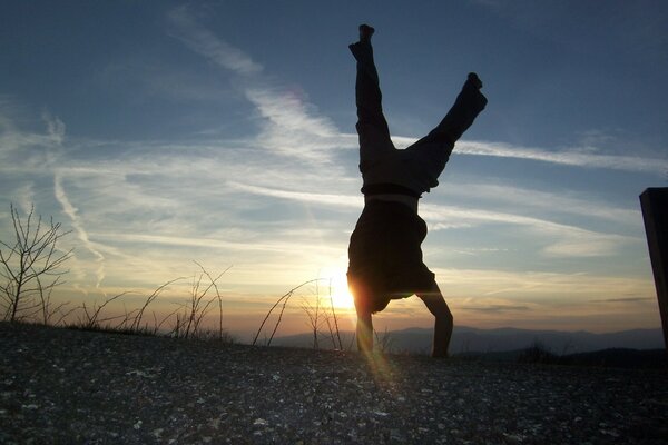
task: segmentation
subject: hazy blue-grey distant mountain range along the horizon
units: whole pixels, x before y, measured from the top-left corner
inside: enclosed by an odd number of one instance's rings
[[[333,348],[330,333],[320,333],[318,347]],[[353,343],[352,333],[341,333],[345,349]],[[379,340],[392,353],[429,354],[432,329],[410,328],[379,333]],[[272,345],[291,347],[313,347],[313,334],[299,334],[274,338]],[[610,348],[662,349],[661,329],[632,329],[618,333],[593,334],[586,330],[531,330],[517,328],[478,329],[466,326],[454,328],[450,352],[458,354],[503,353],[540,346],[557,355],[587,353]]]

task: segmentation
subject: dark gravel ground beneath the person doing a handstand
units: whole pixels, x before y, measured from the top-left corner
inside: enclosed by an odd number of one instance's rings
[[[2,444],[666,444],[666,370],[0,324]]]

